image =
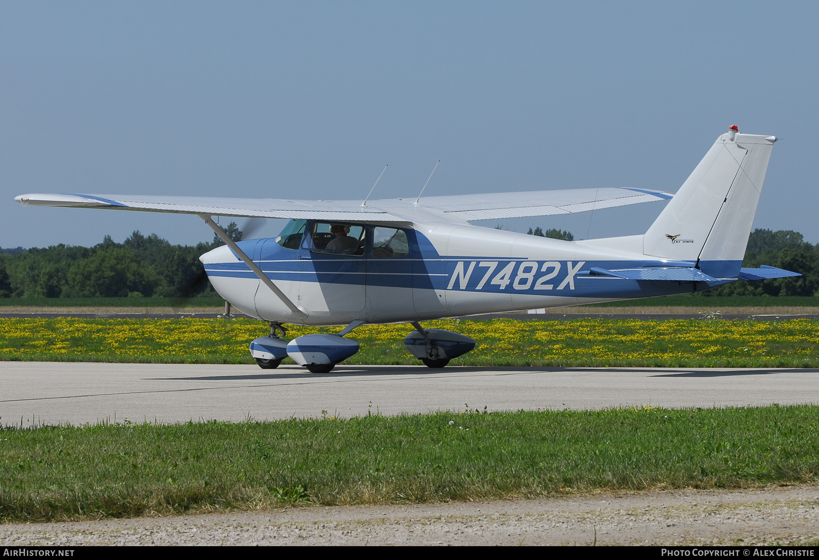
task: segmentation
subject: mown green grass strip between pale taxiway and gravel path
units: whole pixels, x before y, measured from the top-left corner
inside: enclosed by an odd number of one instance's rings
[[[0,521],[809,482],[817,428],[815,405],[6,427]]]

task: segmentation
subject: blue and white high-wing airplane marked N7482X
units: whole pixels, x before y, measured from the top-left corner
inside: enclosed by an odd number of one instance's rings
[[[262,368],[290,356],[310,372],[329,372],[359,350],[346,335],[364,323],[411,324],[405,348],[442,368],[475,341],[424,328],[423,320],[799,276],[741,266],[774,142],[731,126],[676,194],[604,187],[363,202],[93,194],[15,200],[199,215],[225,243],[200,257],[211,284],[230,305],[270,324],[270,335],[250,345]],[[644,235],[568,242],[470,224],[661,200],[668,203]],[[233,242],[214,215],[289,221],[278,237]],[[283,323],[346,327],[288,341]]]

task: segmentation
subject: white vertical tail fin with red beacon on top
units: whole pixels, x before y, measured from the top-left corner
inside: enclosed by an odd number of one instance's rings
[[[696,261],[715,278],[735,278],[774,142],[734,127],[717,138],[645,233],[645,255]]]

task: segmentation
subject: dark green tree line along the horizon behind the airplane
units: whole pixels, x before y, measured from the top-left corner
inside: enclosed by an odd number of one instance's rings
[[[223,228],[233,241],[242,232],[234,222]],[[529,229],[530,235],[572,241],[559,229]],[[46,248],[0,249],[0,297],[215,296],[199,256],[223,245],[171,245],[155,233],[133,232],[122,243],[110,236],[93,247],[65,244]],[[819,244],[791,230],[755,229],[743,266],[776,266],[803,274],[755,282],[732,282],[703,296],[819,296]]]

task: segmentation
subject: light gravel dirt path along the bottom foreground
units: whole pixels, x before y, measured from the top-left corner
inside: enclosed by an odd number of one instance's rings
[[[817,544],[819,485],[0,525],[22,544]]]

